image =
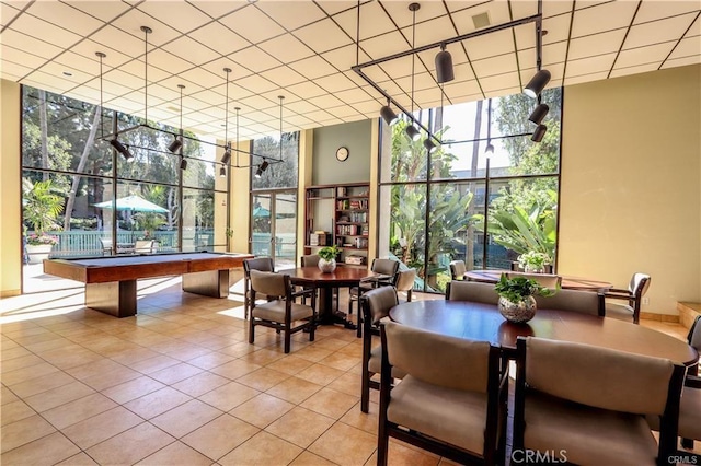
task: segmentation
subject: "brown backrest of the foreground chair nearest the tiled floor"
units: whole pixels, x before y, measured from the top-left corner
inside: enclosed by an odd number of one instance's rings
[[[383,329],[392,366],[432,385],[487,392],[489,342],[449,337],[394,322],[387,322]]]

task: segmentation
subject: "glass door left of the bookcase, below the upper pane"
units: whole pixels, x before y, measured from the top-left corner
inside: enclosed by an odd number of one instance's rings
[[[275,270],[294,268],[297,256],[297,191],[255,191],[251,202],[251,253],[268,256]]]

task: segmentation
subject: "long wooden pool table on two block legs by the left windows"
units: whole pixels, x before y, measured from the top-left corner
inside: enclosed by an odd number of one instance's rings
[[[136,315],[136,280],[183,276],[183,291],[212,298],[229,294],[229,269],[250,254],[172,253],[45,259],[44,272],[85,283],[85,306],[114,315]]]

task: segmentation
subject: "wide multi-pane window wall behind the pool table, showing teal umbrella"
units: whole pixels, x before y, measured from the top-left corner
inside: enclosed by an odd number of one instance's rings
[[[65,286],[42,276],[47,254],[128,253],[138,240],[161,252],[223,251],[214,241],[227,228],[215,224],[226,191],[215,187],[214,144],[185,132],[173,152],[177,130],[145,124],[23,86],[25,292]]]

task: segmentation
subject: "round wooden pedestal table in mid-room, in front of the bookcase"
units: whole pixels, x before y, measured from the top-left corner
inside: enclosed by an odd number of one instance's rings
[[[332,272],[323,272],[317,266],[298,267],[285,270],[292,284],[319,290],[318,312],[322,325],[341,324],[356,330],[357,325],[348,319],[346,313],[333,308],[333,289],[358,287],[363,280],[380,277],[366,267],[337,265]]]

